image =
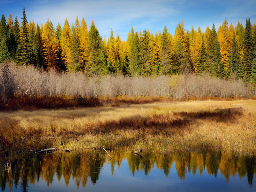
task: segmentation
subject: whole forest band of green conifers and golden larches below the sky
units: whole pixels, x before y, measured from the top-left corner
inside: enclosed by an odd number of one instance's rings
[[[25,8],[21,25],[10,14],[0,20],[0,62],[12,59],[18,65],[55,68],[67,72],[84,71],[88,76],[110,73],[129,76],[172,75],[194,72],[218,78],[230,76],[256,82],[256,25],[246,19],[234,28],[227,19],[216,30],[185,30],[181,20],[172,36],[166,26],[155,35],[149,30],[128,32],[127,40],[115,37],[111,28],[108,40],[99,35],[92,21],[88,30],[76,17],[71,28],[51,20],[39,26],[27,21]]]

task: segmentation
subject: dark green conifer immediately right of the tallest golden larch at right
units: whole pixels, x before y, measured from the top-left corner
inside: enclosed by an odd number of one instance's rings
[[[240,56],[239,56],[239,48],[236,42],[236,36],[233,37],[233,42],[231,44],[230,56],[229,56],[229,66],[231,71],[238,75],[238,71],[240,68]]]

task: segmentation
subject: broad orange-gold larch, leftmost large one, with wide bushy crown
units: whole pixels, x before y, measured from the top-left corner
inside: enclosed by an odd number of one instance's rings
[[[44,55],[46,60],[47,69],[58,67],[58,53],[59,53],[59,42],[55,34],[55,30],[52,21],[49,18],[44,24],[42,33],[42,42],[44,48]]]

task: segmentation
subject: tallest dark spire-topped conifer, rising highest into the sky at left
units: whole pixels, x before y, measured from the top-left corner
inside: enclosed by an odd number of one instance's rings
[[[29,46],[29,30],[28,21],[26,17],[25,7],[23,7],[23,17],[20,29],[20,39],[17,48],[17,62],[20,65],[28,65],[30,60],[30,46]]]

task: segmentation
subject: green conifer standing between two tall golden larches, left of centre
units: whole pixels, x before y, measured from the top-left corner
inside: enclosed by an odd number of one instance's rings
[[[82,68],[81,65],[81,49],[78,41],[78,33],[76,33],[76,28],[72,30],[71,46],[70,46],[70,66],[68,71],[80,71]]]

